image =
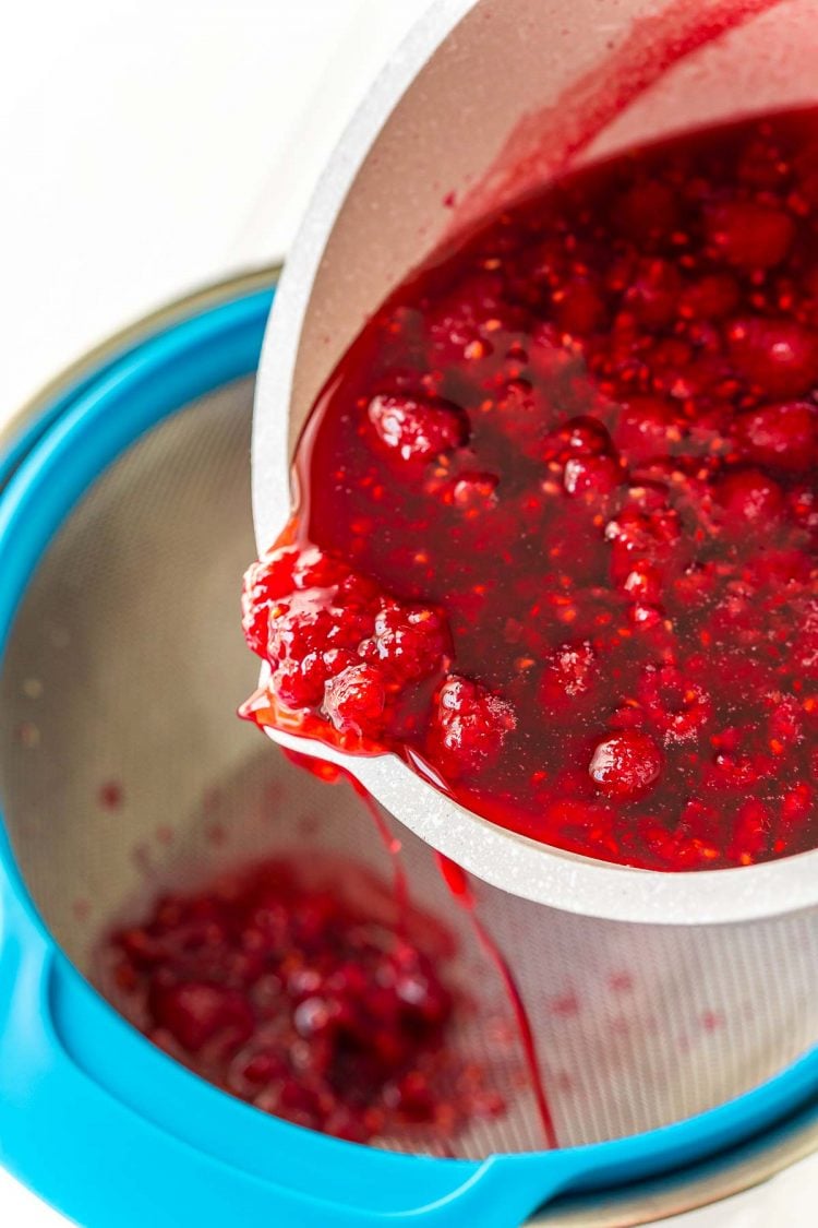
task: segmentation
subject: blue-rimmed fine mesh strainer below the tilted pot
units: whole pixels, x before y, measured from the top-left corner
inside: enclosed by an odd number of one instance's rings
[[[221,1228],[275,1214],[314,1228],[396,1217],[502,1228],[556,1191],[679,1168],[808,1102],[814,1056],[679,1120],[814,1040],[814,916],[651,927],[478,884],[565,1148],[537,1152],[500,985],[432,851],[402,829],[413,895],[457,935],[453,976],[475,1000],[456,1044],[505,1081],[506,1115],[451,1141],[462,1159],[275,1121],[170,1061],[88,989],[99,936],[164,885],[278,850],[331,850],[390,872],[353,792],[304,775],[233,715],[253,682],[235,585],[253,549],[245,377],[269,298],[232,293],[63,389],[0,479],[11,846],[0,846],[0,1156],[90,1226]],[[575,1146],[597,1140],[611,1141]],[[759,1170],[751,1163],[740,1180]]]

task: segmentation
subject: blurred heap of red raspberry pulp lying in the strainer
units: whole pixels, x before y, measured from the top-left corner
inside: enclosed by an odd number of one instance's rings
[[[258,1108],[367,1142],[503,1111],[457,1057],[451,937],[348,865],[256,865],[167,895],[107,943],[110,995],[157,1045]]]

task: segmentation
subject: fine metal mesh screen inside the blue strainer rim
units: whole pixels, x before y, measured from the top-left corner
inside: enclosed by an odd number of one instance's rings
[[[254,553],[251,395],[248,381],[226,387],[131,447],[60,532],[13,630],[0,684],[7,823],[45,922],[86,974],[113,921],[216,867],[320,846],[389,874],[351,791],[299,772],[234,716],[256,677],[237,614]],[[454,975],[476,1001],[457,1044],[481,1063],[506,1054],[509,1111],[455,1151],[538,1147],[499,979],[430,852],[401,839],[415,899],[459,936]],[[565,1144],[710,1108],[818,1038],[816,912],[640,927],[487,887],[478,898]]]

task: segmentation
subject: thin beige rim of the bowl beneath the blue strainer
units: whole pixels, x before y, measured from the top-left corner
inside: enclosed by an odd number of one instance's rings
[[[273,268],[254,270],[207,286],[168,303],[112,336],[54,378],[0,429],[0,462],[9,462],[15,452],[22,459],[48,429],[48,409],[55,398],[70,388],[81,386],[105,360],[163,327],[184,319],[191,312],[269,286],[277,276],[277,271]],[[12,464],[11,468],[13,467]],[[565,1202],[538,1213],[530,1223],[542,1224],[543,1228],[547,1224],[570,1224],[574,1228],[636,1228],[639,1224],[666,1219],[759,1185],[817,1148],[818,1119],[814,1109],[802,1110],[796,1119],[776,1127],[770,1136],[764,1136],[754,1144],[743,1146],[728,1157],[719,1157],[677,1178],[645,1183],[622,1192],[585,1196],[581,1200]]]

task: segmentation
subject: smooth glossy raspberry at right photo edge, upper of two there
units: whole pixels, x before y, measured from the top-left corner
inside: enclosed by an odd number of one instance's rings
[[[740,319],[727,338],[736,371],[764,397],[798,397],[818,378],[818,335],[803,324]]]

